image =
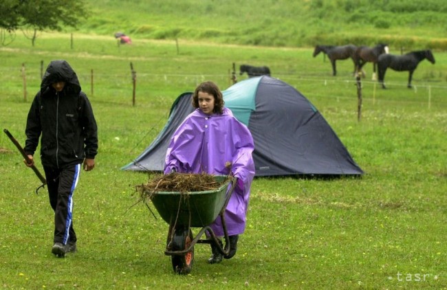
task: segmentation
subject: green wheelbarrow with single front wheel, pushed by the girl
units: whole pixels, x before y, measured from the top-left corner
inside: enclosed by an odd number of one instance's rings
[[[166,250],[171,256],[173,270],[177,274],[189,274],[194,261],[196,243],[215,245],[219,252],[228,255],[230,242],[225,223],[224,212],[231,194],[235,189],[236,179],[215,176],[222,185],[216,190],[199,192],[155,192],[151,201],[162,219],[169,225]],[[217,236],[208,226],[221,217],[225,246],[222,247]],[[196,236],[191,227],[201,227]],[[208,238],[201,238],[206,233]]]

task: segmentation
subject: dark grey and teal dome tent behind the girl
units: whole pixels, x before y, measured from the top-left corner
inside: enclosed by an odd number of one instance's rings
[[[259,76],[222,93],[225,106],[252,133],[255,176],[363,174],[323,115],[294,87]],[[164,169],[171,136],[194,109],[191,96],[182,93],[175,100],[162,132],[122,169]]]

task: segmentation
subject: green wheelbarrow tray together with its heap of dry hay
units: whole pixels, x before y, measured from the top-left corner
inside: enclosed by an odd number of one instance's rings
[[[166,223],[203,227],[222,210],[231,180],[229,176],[173,172],[155,176],[136,189],[140,201],[149,208],[146,201],[150,199]]]

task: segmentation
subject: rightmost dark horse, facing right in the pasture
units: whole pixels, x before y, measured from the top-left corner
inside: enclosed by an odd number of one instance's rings
[[[411,88],[411,78],[417,65],[427,59],[430,63],[435,64],[435,56],[431,53],[430,49],[419,50],[417,52],[408,52],[403,56],[395,56],[393,54],[382,54],[378,59],[379,70],[379,82],[382,84],[382,88],[386,89],[384,84],[386,69],[390,68],[395,71],[408,71],[408,85]]]

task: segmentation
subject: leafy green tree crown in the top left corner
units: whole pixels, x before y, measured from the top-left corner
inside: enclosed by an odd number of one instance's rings
[[[0,28],[8,31],[21,28],[32,40],[43,30],[61,31],[74,27],[88,16],[85,0],[0,0]],[[3,17],[4,16],[4,17]],[[31,33],[27,33],[31,31]]]

